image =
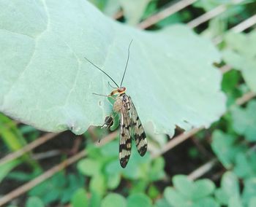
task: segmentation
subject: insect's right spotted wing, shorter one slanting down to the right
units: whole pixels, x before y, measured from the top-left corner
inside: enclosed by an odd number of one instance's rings
[[[148,143],[146,140],[146,133],[141,125],[140,118],[135,109],[135,105],[132,103],[132,99],[129,97],[130,113],[132,118],[132,129],[135,136],[135,144],[140,156],[146,154]]]

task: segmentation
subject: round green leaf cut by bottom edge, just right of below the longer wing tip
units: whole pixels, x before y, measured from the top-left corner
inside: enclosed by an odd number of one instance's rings
[[[127,207],[151,207],[152,203],[150,198],[146,196],[145,194],[138,193],[138,194],[133,194],[129,195],[127,198]]]

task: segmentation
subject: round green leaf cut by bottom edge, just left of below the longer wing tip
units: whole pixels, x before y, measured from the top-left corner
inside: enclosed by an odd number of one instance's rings
[[[108,194],[103,200],[101,207],[125,207],[127,206],[127,200],[122,195],[117,193]],[[141,207],[141,206],[140,206]]]

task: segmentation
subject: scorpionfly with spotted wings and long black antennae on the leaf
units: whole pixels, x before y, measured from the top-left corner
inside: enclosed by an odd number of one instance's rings
[[[132,41],[129,43],[129,47],[131,46]],[[128,57],[127,57],[127,63],[124,69],[124,74],[121,79],[121,84],[118,85],[111,77],[108,75],[105,71],[100,69],[98,66],[96,66],[94,63],[91,62],[91,60],[87,59],[89,63],[91,63],[93,66],[95,66],[99,71],[102,71],[107,77],[109,77],[112,82],[116,85],[116,87],[113,87],[114,90],[110,93],[110,95],[103,95],[106,97],[111,97],[114,99],[113,103],[113,112],[111,113],[109,119],[107,118],[105,120],[105,123],[102,125],[106,125],[112,118],[112,114],[116,112],[117,114],[120,114],[120,141],[119,141],[119,161],[122,168],[125,168],[127,166],[127,163],[129,161],[129,156],[131,155],[131,149],[132,149],[132,138],[135,139],[135,144],[137,147],[137,150],[140,154],[140,156],[144,156],[147,151],[147,141],[146,141],[146,133],[143,129],[143,126],[140,122],[140,118],[138,117],[137,111],[135,109],[135,105],[132,103],[132,98],[127,95],[126,87],[122,86],[122,83],[124,81],[124,76],[127,71],[127,66],[129,62],[129,47],[128,47]],[[97,93],[94,93],[96,95],[100,95]]]

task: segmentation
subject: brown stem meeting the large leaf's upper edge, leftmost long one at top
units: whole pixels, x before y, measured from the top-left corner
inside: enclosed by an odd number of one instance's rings
[[[175,12],[178,12],[181,9],[184,9],[185,7],[188,7],[189,5],[193,4],[195,1],[197,1],[197,0],[178,1],[176,4],[170,5],[170,7],[167,7],[166,9],[163,9],[162,11],[158,12],[157,14],[152,15],[151,17],[148,17],[146,20],[139,23],[138,27],[145,29],[150,26],[153,26],[155,23],[158,23],[160,20],[163,20],[166,17],[173,15]]]

